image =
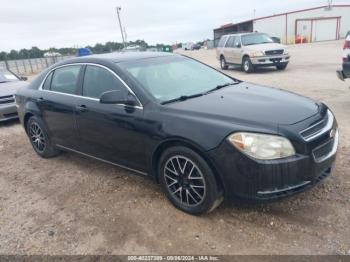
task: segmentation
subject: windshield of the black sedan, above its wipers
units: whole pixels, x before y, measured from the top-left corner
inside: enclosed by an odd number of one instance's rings
[[[204,94],[235,80],[195,60],[167,56],[120,64],[160,103]]]

